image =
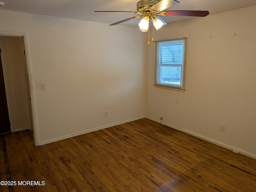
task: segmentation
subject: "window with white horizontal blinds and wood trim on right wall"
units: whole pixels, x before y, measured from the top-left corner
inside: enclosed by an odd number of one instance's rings
[[[185,90],[186,40],[156,42],[155,86]]]

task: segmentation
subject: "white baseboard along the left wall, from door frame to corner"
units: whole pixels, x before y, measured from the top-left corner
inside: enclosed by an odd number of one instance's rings
[[[46,140],[46,141],[40,141],[39,145],[45,145],[45,144],[52,143],[52,142],[55,142],[55,141],[60,141],[62,139],[68,139],[70,137],[75,137],[75,136],[78,136],[78,135],[83,135],[85,133],[90,133],[90,132],[93,132],[93,131],[98,131],[100,129],[105,129],[105,128],[108,128],[108,127],[120,125],[122,123],[128,123],[130,121],[140,120],[142,118],[146,118],[146,116],[140,116],[140,117],[137,117],[137,118],[132,118],[132,119],[129,119],[129,120],[119,121],[119,122],[116,122],[116,123],[111,123],[111,124],[108,124],[108,125],[103,125],[103,126],[100,126],[100,127],[95,127],[95,128],[84,130],[84,131],[80,131],[80,132],[77,132],[77,133],[72,133],[72,134],[69,134],[69,135],[64,135],[62,137],[57,137],[57,138],[49,139],[49,140]]]

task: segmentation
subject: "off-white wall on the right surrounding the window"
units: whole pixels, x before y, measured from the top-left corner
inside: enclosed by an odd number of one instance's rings
[[[156,40],[188,37],[185,92],[155,88],[147,49],[146,116],[256,157],[256,6],[168,24]],[[226,125],[225,132],[220,124]]]

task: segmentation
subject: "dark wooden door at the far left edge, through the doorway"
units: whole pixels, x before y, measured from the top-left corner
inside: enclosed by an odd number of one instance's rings
[[[1,49],[0,49],[1,52]],[[4,86],[4,73],[0,53],[0,134],[10,132],[10,121]]]

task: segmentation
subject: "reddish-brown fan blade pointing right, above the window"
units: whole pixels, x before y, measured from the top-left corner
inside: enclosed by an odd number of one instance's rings
[[[209,15],[208,11],[163,11],[162,16],[192,16],[205,17]]]

